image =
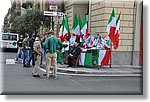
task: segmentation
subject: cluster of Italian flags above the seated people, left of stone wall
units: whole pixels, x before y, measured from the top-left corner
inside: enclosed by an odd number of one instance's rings
[[[69,24],[68,24],[68,17],[63,16],[62,25],[59,31],[59,37],[63,42],[67,36],[71,36]],[[87,19],[86,13],[84,13],[83,20],[81,21],[80,15],[77,17],[75,14],[72,26],[72,36],[76,36],[76,38],[80,38],[82,42],[83,37],[88,38],[88,26],[87,26]]]

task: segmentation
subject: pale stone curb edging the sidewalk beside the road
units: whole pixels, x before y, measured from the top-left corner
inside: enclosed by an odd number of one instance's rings
[[[46,72],[45,69],[40,68],[40,70]],[[89,76],[89,77],[102,77],[102,76],[143,76],[142,71],[81,71],[67,69],[67,68],[58,68],[58,74],[68,75],[68,76]]]

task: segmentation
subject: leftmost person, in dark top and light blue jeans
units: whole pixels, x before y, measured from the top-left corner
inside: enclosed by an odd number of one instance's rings
[[[18,47],[18,52],[17,52],[17,56],[15,58],[16,61],[18,61],[19,59],[22,60],[22,42],[23,42],[23,35],[20,35],[19,40],[17,41],[17,47]]]

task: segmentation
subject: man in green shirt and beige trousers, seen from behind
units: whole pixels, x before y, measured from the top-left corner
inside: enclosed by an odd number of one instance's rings
[[[54,79],[57,78],[57,47],[60,46],[62,49],[62,42],[54,36],[54,33],[51,32],[50,36],[46,39],[43,44],[46,49],[46,78],[49,79],[49,73],[54,74]]]

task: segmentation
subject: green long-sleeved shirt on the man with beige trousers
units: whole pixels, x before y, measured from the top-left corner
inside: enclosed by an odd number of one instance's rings
[[[60,46],[59,50],[62,49],[62,42],[58,38],[56,38],[55,36],[48,37],[45,40],[43,45],[48,49],[48,52],[50,54],[56,53],[56,50],[59,46]]]

